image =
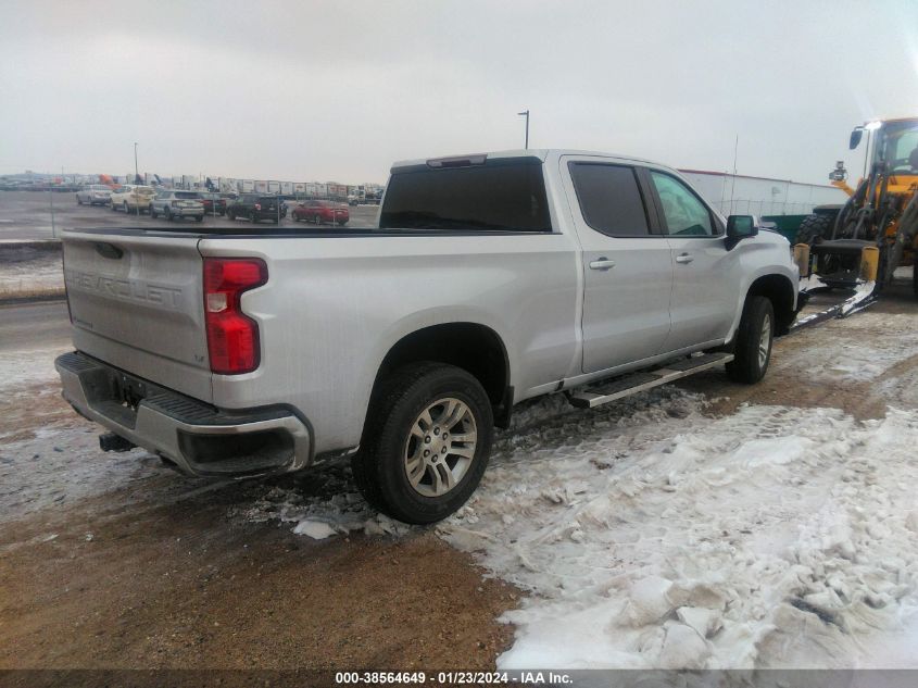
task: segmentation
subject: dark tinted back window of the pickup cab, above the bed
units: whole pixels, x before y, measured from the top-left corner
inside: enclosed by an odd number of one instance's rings
[[[464,167],[410,167],[389,179],[379,227],[551,232],[542,164],[498,160]]]

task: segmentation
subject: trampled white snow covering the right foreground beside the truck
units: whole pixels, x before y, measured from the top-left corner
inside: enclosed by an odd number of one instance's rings
[[[532,592],[499,666],[918,666],[918,417],[661,397],[505,434],[441,526]]]

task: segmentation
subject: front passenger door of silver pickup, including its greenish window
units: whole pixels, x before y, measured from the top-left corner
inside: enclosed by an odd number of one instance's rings
[[[727,250],[724,227],[688,184],[665,171],[646,175],[672,253],[672,329],[664,349],[722,341],[735,312],[741,251]]]

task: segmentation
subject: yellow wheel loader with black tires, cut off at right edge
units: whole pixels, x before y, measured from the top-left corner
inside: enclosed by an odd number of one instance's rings
[[[865,132],[866,177],[852,189],[838,163],[829,178],[850,198],[844,205],[814,209],[800,226],[795,248],[801,276],[807,278],[802,292],[856,289],[841,314],[872,299],[903,265],[913,265],[918,295],[918,117],[855,127],[852,150]]]

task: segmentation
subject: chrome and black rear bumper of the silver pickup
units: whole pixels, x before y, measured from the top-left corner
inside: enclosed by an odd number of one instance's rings
[[[54,366],[79,414],[190,475],[249,477],[311,463],[310,429],[287,409],[219,410],[77,351]]]

